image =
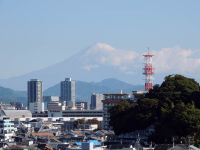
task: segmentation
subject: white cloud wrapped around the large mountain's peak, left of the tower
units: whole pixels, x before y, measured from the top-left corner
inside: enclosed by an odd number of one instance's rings
[[[85,66],[93,63],[115,66],[126,71],[133,65],[138,53],[115,49],[107,44],[98,43],[89,48],[83,56]],[[84,67],[85,68],[85,67]]]

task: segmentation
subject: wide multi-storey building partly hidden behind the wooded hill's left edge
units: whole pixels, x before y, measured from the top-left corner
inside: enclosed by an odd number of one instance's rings
[[[109,109],[123,100],[130,100],[131,94],[104,94],[103,102],[103,129],[109,130],[112,129],[109,126],[110,113]]]

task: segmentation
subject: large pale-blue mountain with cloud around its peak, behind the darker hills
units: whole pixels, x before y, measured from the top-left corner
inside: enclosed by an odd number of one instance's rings
[[[66,77],[86,82],[116,78],[135,85],[144,82],[142,67],[142,56],[137,56],[135,52],[122,51],[108,44],[97,43],[47,68],[22,76],[0,79],[0,85],[15,90],[26,90],[27,81],[37,78],[43,81],[43,89],[47,89]],[[107,83],[107,86],[111,84]]]

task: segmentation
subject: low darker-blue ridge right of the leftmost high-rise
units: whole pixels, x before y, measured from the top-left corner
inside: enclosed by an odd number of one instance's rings
[[[132,93],[133,90],[144,90],[143,85],[131,85],[114,78],[105,79],[101,82],[76,81],[75,87],[77,101],[90,101],[90,96],[92,93],[119,93],[120,90],[122,90],[124,93]],[[43,95],[59,96],[60,83],[45,90]]]

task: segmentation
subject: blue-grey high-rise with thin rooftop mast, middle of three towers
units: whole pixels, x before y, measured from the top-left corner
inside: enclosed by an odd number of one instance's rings
[[[71,78],[60,83],[60,101],[66,101],[67,107],[75,107],[75,81]]]

